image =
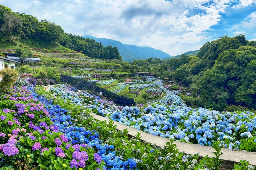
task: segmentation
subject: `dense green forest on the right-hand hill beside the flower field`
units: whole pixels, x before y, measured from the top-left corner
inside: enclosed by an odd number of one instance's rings
[[[169,67],[175,70],[171,77],[190,85],[204,107],[256,108],[256,41],[244,35],[207,42],[197,55],[171,59]]]

